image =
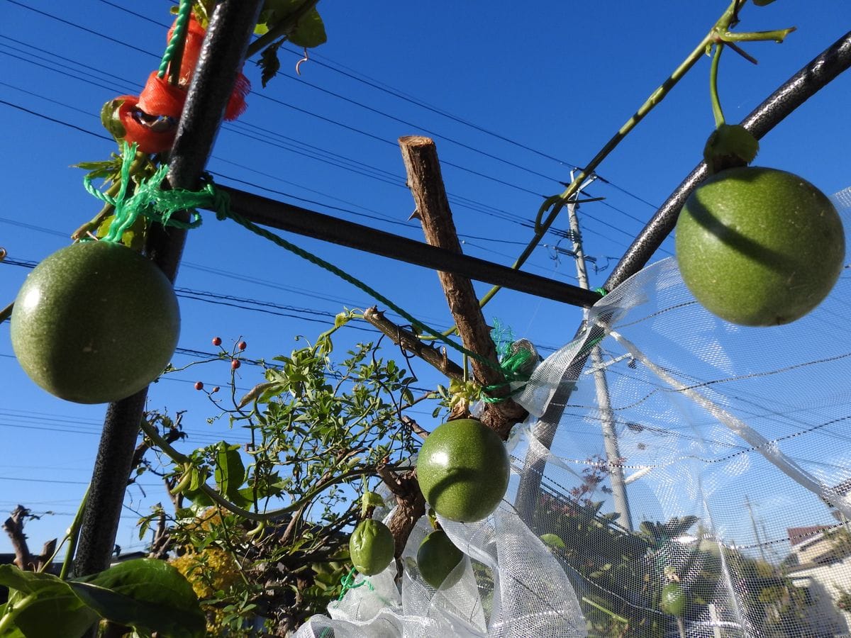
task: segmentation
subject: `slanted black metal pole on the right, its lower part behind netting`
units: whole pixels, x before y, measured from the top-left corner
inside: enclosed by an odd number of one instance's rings
[[[766,100],[763,100],[762,104],[757,106],[748,117],[745,117],[741,122],[742,125],[751,131],[757,139],[761,139],[768,131],[786,117],[789,117],[808,98],[831,83],[842,71],[847,71],[849,66],[851,66],[851,31],[831,44],[822,54],[789,78]],[[656,211],[643,230],[638,233],[635,241],[632,242],[630,248],[627,248],[618,265],[614,267],[612,274],[608,276],[603,288],[606,290],[614,289],[647,264],[653,253],[665,241],[665,237],[674,230],[674,226],[677,225],[677,215],[683,208],[688,196],[705,178],[706,166],[704,162],[700,162],[671,193],[671,196],[665,200],[665,203]],[[574,339],[578,338],[584,330],[585,326],[580,325]],[[602,336],[603,328],[594,326],[591,328],[591,334],[588,335],[586,341],[593,342]],[[573,394],[574,383],[579,379],[590,352],[590,348],[580,350],[579,354],[570,362],[562,375],[560,385],[541,417],[539,427],[535,429],[535,436],[547,449],[551,447],[556,436],[564,408],[571,394]],[[531,520],[545,464],[544,459],[536,459],[524,467],[523,478],[517,488],[516,499],[517,510],[524,521]]]

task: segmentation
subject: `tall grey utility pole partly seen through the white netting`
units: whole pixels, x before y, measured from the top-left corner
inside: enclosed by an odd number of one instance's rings
[[[570,179],[573,180],[573,172]],[[593,178],[580,186],[576,197],[579,198],[582,189],[590,184]],[[568,203],[568,219],[570,220],[570,237],[574,242],[574,260],[576,261],[576,278],[580,282],[580,288],[589,289],[588,271],[585,270],[585,252],[582,250],[582,235],[580,233],[580,222],[576,216],[576,208],[579,204]],[[588,318],[588,310],[585,309],[585,319]],[[614,430],[614,412],[612,403],[608,396],[608,382],[606,381],[605,366],[603,365],[603,352],[595,345],[591,348],[591,368],[594,372],[594,385],[597,390],[597,407],[600,410],[600,426],[603,430],[603,447],[606,450],[608,461],[608,480],[612,486],[612,500],[614,511],[620,514],[619,523],[632,531],[632,516],[630,514],[630,503],[626,498],[626,483],[624,481],[624,468],[620,464],[620,451],[618,449],[618,438]]]

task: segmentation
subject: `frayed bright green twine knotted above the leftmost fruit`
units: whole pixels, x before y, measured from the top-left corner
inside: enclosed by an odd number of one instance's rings
[[[100,237],[100,241],[120,242],[124,232],[134,225],[140,214],[162,225],[190,229],[201,225],[201,215],[198,214],[196,208],[216,208],[226,205],[223,196],[215,189],[210,180],[205,181],[200,191],[186,191],[180,188],[163,191],[160,185],[168,174],[168,164],[163,164],[160,168],[157,168],[157,171],[148,179],[141,180],[136,185],[134,194],[128,197],[130,167],[135,155],[136,145],[128,145],[125,142],[121,165],[121,185],[115,197],[110,197],[95,188],[88,175],[83,178],[86,191],[115,208],[109,230],[106,236]],[[180,219],[171,219],[171,216],[180,210],[188,210],[191,214],[191,220],[186,222],[180,221]]]

